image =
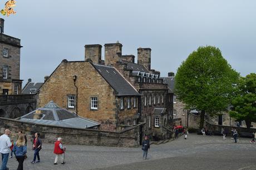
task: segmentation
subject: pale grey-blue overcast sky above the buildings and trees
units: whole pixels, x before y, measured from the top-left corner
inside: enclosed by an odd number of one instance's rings
[[[17,13],[2,18],[4,33],[21,39],[24,86],[43,82],[62,59],[84,60],[85,44],[101,44],[104,59],[104,44],[117,41],[122,54],[151,48],[162,77],[206,45],[246,76],[256,71],[255,9],[255,0],[16,0]]]

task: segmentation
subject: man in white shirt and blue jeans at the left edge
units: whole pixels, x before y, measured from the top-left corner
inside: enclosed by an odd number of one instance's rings
[[[9,129],[5,129],[4,134],[0,136],[0,153],[2,154],[2,166],[0,170],[9,169],[6,167],[9,158],[10,147],[12,146],[9,134],[11,134],[11,131]]]

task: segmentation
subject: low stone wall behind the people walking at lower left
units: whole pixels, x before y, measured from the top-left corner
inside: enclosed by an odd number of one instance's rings
[[[119,132],[100,131],[96,129],[63,128],[45,126],[42,124],[23,123],[15,119],[0,117],[0,127],[8,128],[13,135],[19,130],[28,136],[36,132],[41,134],[42,142],[53,143],[58,137],[63,138],[65,144],[84,144],[93,146],[139,146],[139,126],[132,126]]]

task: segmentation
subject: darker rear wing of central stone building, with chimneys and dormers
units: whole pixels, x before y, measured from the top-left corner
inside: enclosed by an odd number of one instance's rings
[[[145,122],[141,131],[153,139],[169,138],[168,125],[172,120],[172,97],[167,84],[160,78],[160,72],[151,69],[151,49],[137,49],[137,63],[134,55],[122,55],[122,44],[105,44],[105,61],[101,59],[99,44],[85,46],[85,59],[96,64],[115,67],[122,76],[140,93],[138,120]],[[99,56],[100,55],[100,56]],[[125,122],[121,122],[125,123]]]

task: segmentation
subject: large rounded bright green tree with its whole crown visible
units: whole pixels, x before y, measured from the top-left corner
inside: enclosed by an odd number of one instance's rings
[[[218,48],[199,47],[178,68],[175,93],[186,108],[201,111],[202,128],[205,113],[214,116],[227,109],[238,78]]]

